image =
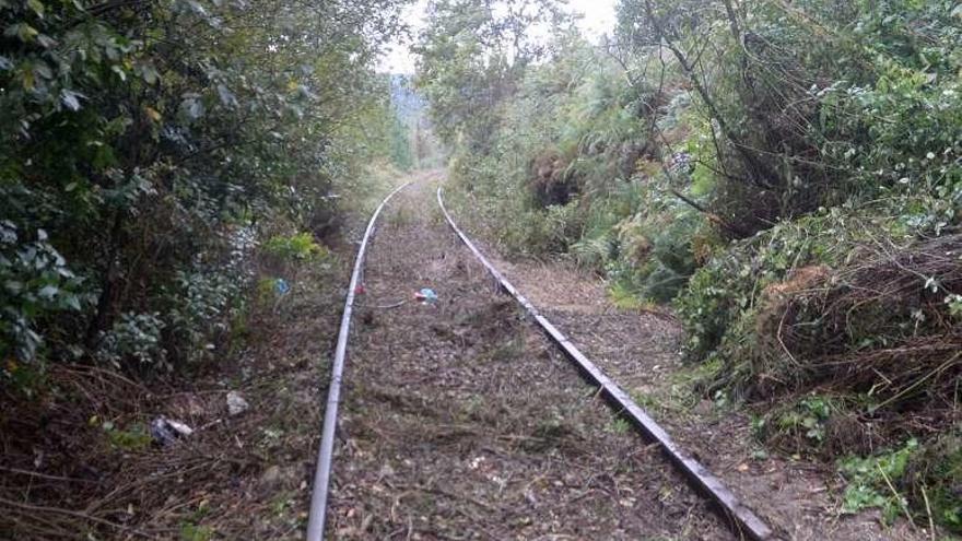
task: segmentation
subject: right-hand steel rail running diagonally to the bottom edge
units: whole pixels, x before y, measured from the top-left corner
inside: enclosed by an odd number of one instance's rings
[[[437,188],[437,204],[444,213],[450,228],[460,237],[461,242],[474,254],[474,257],[481,261],[481,264],[488,269],[488,272],[497,281],[498,287],[513,296],[528,315],[541,327],[544,333],[559,348],[564,351],[565,355],[572,360],[578,367],[579,372],[591,384],[597,385],[608,403],[623,415],[635,427],[637,427],[645,436],[654,440],[665,452],[668,459],[678,468],[689,482],[703,494],[714,501],[724,518],[735,530],[736,534],[747,536],[754,541],[764,541],[774,539],[772,529],[765,525],[751,509],[744,506],[741,501],[725,484],[713,475],[704,466],[690,455],[684,452],[671,436],[661,428],[654,419],[650,417],[635,401],[609,378],[597,365],[588,360],[571,340],[558,330],[544,316],[539,314],[538,308],[525,298],[524,295],[512,285],[511,282],[502,274],[492,263],[481,254],[481,250],[474,246],[474,243],[458,227],[451,217],[447,208],[444,205],[442,197],[442,188]]]

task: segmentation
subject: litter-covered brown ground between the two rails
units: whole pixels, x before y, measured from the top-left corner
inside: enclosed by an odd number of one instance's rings
[[[422,287],[436,304],[409,301]],[[345,372],[332,539],[734,539],[446,227],[391,201]]]

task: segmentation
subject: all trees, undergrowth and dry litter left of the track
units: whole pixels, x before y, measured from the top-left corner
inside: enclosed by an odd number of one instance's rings
[[[403,4],[0,0],[0,538],[303,531]]]

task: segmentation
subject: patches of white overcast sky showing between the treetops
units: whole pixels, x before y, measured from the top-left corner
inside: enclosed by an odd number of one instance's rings
[[[578,22],[582,32],[595,40],[602,34],[611,34],[614,30],[614,3],[618,0],[568,0],[568,9],[582,13],[584,19]],[[418,0],[409,5],[404,19],[411,25],[413,35],[418,35],[424,25],[424,11],[427,0]],[[389,50],[378,62],[377,71],[389,73],[414,73],[414,56],[408,50],[409,43],[391,44]]]

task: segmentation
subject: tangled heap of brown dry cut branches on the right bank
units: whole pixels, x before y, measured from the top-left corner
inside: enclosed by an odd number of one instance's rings
[[[960,258],[960,234],[901,248],[877,244],[834,273],[807,267],[769,286],[756,319],[753,390],[868,393],[877,414],[918,412],[928,427],[951,422],[962,325],[946,297],[962,293]]]

